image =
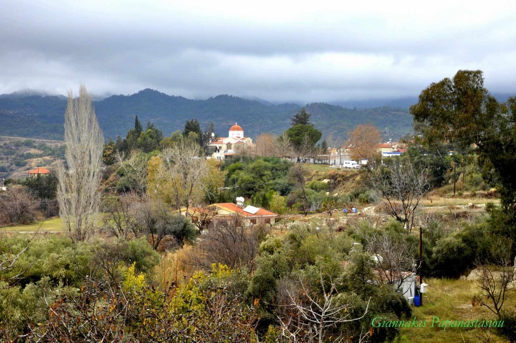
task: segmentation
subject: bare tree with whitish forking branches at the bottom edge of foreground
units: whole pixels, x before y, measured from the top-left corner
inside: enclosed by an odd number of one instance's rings
[[[328,276],[329,277],[329,276]],[[331,336],[330,332],[345,322],[364,318],[369,309],[370,298],[367,301],[364,314],[358,318],[351,318],[348,309],[352,304],[339,304],[335,281],[329,277],[329,286],[326,286],[322,271],[319,272],[318,286],[306,285],[305,280],[299,280],[297,287],[286,287],[285,292],[289,303],[285,316],[278,316],[282,335],[294,341],[325,342]],[[318,288],[318,287],[317,287]],[[290,313],[288,313],[290,312]],[[342,342],[346,337],[343,334],[332,337],[332,342]]]

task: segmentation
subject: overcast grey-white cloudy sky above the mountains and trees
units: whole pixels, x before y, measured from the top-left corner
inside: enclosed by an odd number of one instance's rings
[[[459,69],[516,93],[516,3],[4,1],[0,49],[0,93],[396,98]]]

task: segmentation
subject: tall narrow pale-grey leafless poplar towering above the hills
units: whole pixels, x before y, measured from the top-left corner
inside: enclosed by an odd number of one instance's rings
[[[57,166],[59,216],[74,242],[88,238],[100,204],[98,188],[104,137],[95,116],[91,95],[80,85],[79,97],[68,92],[65,112],[65,158]]]

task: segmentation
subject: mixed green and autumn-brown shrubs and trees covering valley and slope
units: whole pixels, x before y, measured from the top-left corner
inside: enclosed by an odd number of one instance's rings
[[[405,339],[402,330],[373,328],[372,319],[411,320],[440,301],[429,297],[430,306],[413,311],[401,294],[404,278],[446,286],[446,278],[473,271],[473,307],[504,320],[494,333],[514,341],[505,302],[516,254],[513,139],[485,134],[513,130],[515,107],[514,99],[493,100],[482,82],[478,72],[459,71],[431,84],[411,109],[420,135],[407,137],[406,153],[383,161],[373,154],[361,170],[289,162],[327,147],[315,146],[320,136],[306,111],[293,116],[288,134],[257,140],[260,153],[243,149],[221,164],[199,157],[213,127],[201,130],[191,119],[163,137],[136,119],[125,139],[102,151],[115,172],[104,180],[117,192],[102,198],[100,221],[72,226],[88,235],[0,239],[1,333],[27,341],[395,341]],[[457,101],[447,103],[450,97]],[[437,100],[449,108],[435,107]],[[467,130],[460,117],[473,118]],[[52,190],[51,181],[23,181],[3,193],[3,206],[22,204],[4,222],[33,221],[34,199]],[[459,199],[480,194],[499,196],[499,205],[456,215],[465,206]],[[211,217],[194,227],[189,209],[237,195],[304,216],[272,227]],[[452,220],[439,212],[446,199]],[[351,207],[363,212],[341,213]]]

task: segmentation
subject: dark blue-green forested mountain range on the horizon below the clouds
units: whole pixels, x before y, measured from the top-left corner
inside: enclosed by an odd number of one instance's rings
[[[141,122],[153,122],[165,135],[182,130],[189,118],[197,118],[203,127],[213,121],[222,136],[234,122],[251,137],[265,132],[281,134],[288,128],[289,118],[301,108],[298,104],[254,99],[219,95],[191,100],[143,89],[130,96],[114,95],[94,101],[94,106],[105,137],[114,139],[125,136],[133,127],[135,115]],[[323,137],[330,133],[346,136],[357,124],[367,122],[374,123],[386,138],[398,138],[411,131],[412,117],[407,108],[345,108],[327,103],[306,106]],[[66,100],[58,96],[0,96],[0,135],[61,139],[65,107]]]

